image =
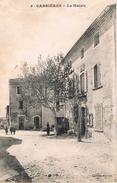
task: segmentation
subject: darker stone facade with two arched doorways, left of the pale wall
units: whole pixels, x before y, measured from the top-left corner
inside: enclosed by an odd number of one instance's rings
[[[16,129],[40,129],[42,126],[42,109],[41,105],[31,105],[27,98],[22,95],[23,80],[9,80],[9,109],[10,109],[10,126]]]

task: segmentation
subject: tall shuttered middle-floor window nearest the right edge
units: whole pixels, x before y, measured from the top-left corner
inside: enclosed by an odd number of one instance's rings
[[[96,64],[94,66],[94,89],[99,88],[100,86],[101,86],[100,65]]]

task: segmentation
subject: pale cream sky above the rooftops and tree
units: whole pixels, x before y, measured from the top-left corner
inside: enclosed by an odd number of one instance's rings
[[[9,79],[24,62],[33,65],[57,53],[64,55],[114,0],[0,0],[0,117],[9,104]],[[85,4],[86,7],[37,8],[36,4]],[[33,5],[34,7],[31,7]]]

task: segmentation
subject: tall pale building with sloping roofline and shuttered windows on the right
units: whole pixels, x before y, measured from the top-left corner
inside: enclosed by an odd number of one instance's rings
[[[112,138],[115,128],[116,5],[107,6],[82,34],[64,58],[74,69],[77,94],[66,103],[70,125],[78,104],[81,133],[89,129]],[[74,84],[75,85],[75,84]],[[75,86],[74,86],[75,87]]]

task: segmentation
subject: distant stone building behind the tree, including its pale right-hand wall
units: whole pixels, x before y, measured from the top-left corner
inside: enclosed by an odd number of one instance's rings
[[[9,125],[16,129],[46,128],[47,122],[50,126],[54,124],[54,116],[49,108],[32,100],[30,91],[23,96],[23,79],[9,80]]]

